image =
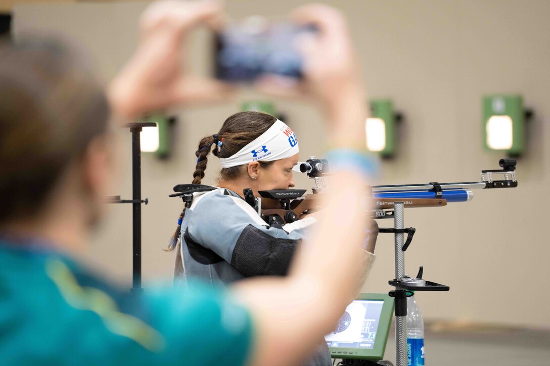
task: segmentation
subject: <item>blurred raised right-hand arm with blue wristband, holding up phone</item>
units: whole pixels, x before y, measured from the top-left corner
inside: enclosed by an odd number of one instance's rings
[[[256,346],[250,359],[254,365],[299,364],[332,330],[357,289],[357,279],[374,259],[365,257],[361,248],[370,204],[364,187],[371,165],[351,150],[351,160],[346,160],[342,150],[364,148],[366,118],[365,91],[345,20],[325,5],[306,5],[294,16],[316,24],[320,34],[307,44],[305,84],[290,92],[313,96],[324,106],[328,143],[336,158],[331,166],[337,174],[331,179],[319,229],[304,244],[290,275],[234,287],[254,319]],[[338,240],[334,240],[336,231]]]

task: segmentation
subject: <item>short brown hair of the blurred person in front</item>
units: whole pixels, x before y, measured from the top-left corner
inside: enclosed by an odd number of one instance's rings
[[[73,49],[0,44],[0,222],[40,213],[69,163],[106,131],[102,88]]]

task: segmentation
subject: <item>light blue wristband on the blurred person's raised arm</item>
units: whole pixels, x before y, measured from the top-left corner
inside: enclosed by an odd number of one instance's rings
[[[360,153],[350,148],[330,150],[325,154],[328,167],[331,171],[351,170],[361,173],[368,178],[377,176],[378,162],[366,153]]]

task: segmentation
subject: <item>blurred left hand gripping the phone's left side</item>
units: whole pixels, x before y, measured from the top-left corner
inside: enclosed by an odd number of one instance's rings
[[[195,75],[185,59],[191,30],[200,25],[215,29],[222,23],[222,10],[218,1],[151,4],[141,15],[138,48],[108,87],[114,112],[133,119],[176,104],[227,99],[232,87]]]

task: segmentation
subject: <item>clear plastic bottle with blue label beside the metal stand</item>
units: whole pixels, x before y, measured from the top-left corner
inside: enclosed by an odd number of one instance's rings
[[[407,298],[407,363],[424,366],[424,320],[414,295]]]

